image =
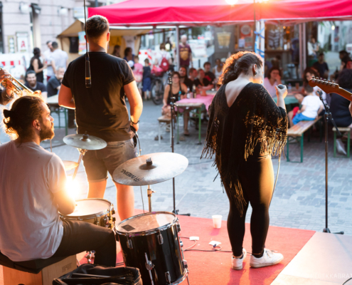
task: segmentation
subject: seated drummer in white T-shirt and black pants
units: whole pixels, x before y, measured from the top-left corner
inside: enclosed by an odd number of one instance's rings
[[[62,160],[40,146],[54,137],[43,98],[16,99],[4,110],[14,140],[0,145],[0,252],[12,261],[68,257],[95,250],[95,264],[116,265],[114,232],[80,221],[61,220],[75,210],[65,190]]]

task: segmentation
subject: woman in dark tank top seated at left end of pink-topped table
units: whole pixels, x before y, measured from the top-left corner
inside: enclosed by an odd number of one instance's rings
[[[187,87],[184,83],[181,83],[180,79],[180,73],[177,71],[174,71],[172,73],[172,85],[171,85],[171,92],[170,92],[170,86],[169,84],[166,85],[165,91],[164,91],[164,105],[161,108],[161,115],[166,115],[168,117],[171,117],[171,97],[175,98],[175,102],[178,100],[181,100],[183,98],[186,98],[186,93],[187,93]],[[188,133],[188,117],[189,117],[189,110],[184,110],[183,111],[183,134],[184,135],[189,135]]]

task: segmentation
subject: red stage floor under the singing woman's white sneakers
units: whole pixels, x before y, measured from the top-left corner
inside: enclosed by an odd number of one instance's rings
[[[140,214],[136,210],[136,214]],[[221,247],[225,251],[230,251],[230,241],[226,222],[223,221],[221,229],[213,228],[211,219],[198,217],[178,216],[181,224],[181,237],[199,237],[199,241],[193,249],[211,249],[208,243],[212,240],[221,242]],[[215,284],[271,284],[277,275],[296,254],[311,239],[314,231],[302,229],[288,229],[283,227],[270,227],[267,235],[266,247],[274,249],[284,254],[284,260],[277,265],[252,269],[250,268],[250,254],[244,261],[242,270],[231,269],[230,252],[185,252],[185,259],[188,262],[189,281],[191,284],[215,285]],[[191,247],[193,242],[182,239],[183,248]],[[251,252],[250,224],[246,224],[246,234],[243,247],[247,252]],[[82,255],[80,255],[82,257]],[[81,263],[86,263],[87,259],[82,259]],[[122,252],[118,247],[117,262],[123,261]],[[0,266],[0,285],[3,284],[2,268]],[[183,281],[187,284],[187,281]]]

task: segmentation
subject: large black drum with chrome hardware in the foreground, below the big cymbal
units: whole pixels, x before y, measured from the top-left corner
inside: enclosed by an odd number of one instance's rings
[[[144,285],[179,284],[186,278],[180,230],[178,218],[170,212],[139,214],[115,227],[124,264],[139,269]]]

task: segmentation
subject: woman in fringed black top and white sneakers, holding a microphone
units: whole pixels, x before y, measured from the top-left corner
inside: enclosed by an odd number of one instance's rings
[[[221,87],[209,108],[209,124],[202,157],[215,155],[221,182],[230,200],[228,234],[232,268],[242,269],[245,214],[252,206],[250,266],[277,264],[282,254],[265,249],[269,206],[274,187],[272,154],[282,152],[287,140],[287,89],[277,89],[277,104],[261,85],[263,63],[252,52],[227,59]]]

